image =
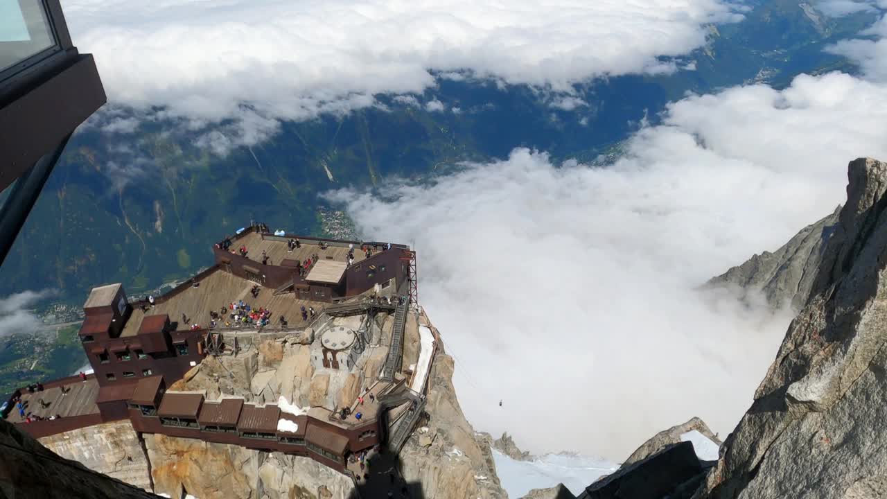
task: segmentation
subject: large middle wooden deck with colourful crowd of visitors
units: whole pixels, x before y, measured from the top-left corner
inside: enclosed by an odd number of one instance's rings
[[[286,248],[286,245],[284,245],[284,248]],[[206,328],[209,325],[210,312],[221,312],[223,306],[228,311],[229,304],[243,300],[244,303],[249,304],[253,308],[264,307],[270,310],[271,324],[279,324],[278,318],[280,315],[283,315],[287,318],[290,326],[299,327],[302,325],[302,305],[305,308],[313,306],[318,310],[318,313],[324,306],[329,305],[322,302],[297,299],[292,293],[275,297],[273,296],[274,290],[268,288],[262,288],[259,296],[253,298],[249,293],[253,286],[255,286],[253,281],[247,281],[232,273],[218,269],[200,281],[198,288],[184,289],[166,300],[157,300],[157,304],[151,307],[146,314],[168,314],[169,321],[178,322],[176,329],[184,330],[188,329],[188,325],[181,323],[182,314],[184,313],[192,323],[200,324],[201,328]],[[228,313],[225,313],[225,318],[228,317]],[[141,328],[143,318],[145,318],[145,312],[142,312],[142,309],[138,307],[134,307],[130,320],[123,327],[121,337],[136,336],[139,328]]]

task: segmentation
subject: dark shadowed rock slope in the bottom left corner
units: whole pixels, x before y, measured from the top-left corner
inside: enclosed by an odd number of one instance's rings
[[[0,420],[0,497],[148,499],[158,497],[43,447]]]

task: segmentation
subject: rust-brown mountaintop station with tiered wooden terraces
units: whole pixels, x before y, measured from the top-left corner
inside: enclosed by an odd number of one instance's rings
[[[258,224],[224,238],[213,251],[214,265],[159,297],[131,300],[120,283],[92,289],[79,337],[94,374],[47,382],[37,392],[20,389],[0,413],[35,437],[129,418],[137,432],[307,455],[343,472],[348,455],[385,441],[395,418],[403,420],[403,429],[393,427],[396,445],[403,445],[424,405],[422,388],[412,390],[400,373],[405,316],[415,300],[412,250],[275,235]],[[241,300],[248,311],[232,305]],[[374,311],[393,313],[395,321],[385,366],[366,387],[373,403],[361,405],[363,417],[352,408],[341,415],[339,408],[294,411],[168,390],[206,355],[236,353],[239,335],[287,336],[318,325],[321,317],[326,324]],[[235,314],[253,320],[232,321]],[[370,329],[323,329],[312,345],[318,364],[351,368],[363,345],[374,341]],[[20,403],[27,404],[30,422]]]

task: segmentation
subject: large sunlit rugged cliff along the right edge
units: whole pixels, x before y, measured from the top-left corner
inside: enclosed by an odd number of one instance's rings
[[[848,176],[809,299],[697,498],[887,496],[887,164]]]

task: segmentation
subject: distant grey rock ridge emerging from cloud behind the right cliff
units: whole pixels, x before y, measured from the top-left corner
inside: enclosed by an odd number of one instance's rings
[[[755,255],[744,264],[712,278],[706,286],[733,289],[746,303],[763,296],[773,310],[789,307],[797,313],[810,296],[822,250],[837,223],[840,210],[838,206],[828,217],[804,227],[780,249]]]

